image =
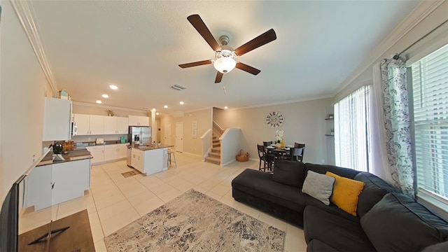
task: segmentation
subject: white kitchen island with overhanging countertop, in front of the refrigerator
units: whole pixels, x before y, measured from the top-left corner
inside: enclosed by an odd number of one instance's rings
[[[168,169],[168,148],[172,145],[132,146],[131,167],[142,174],[151,175]]]

